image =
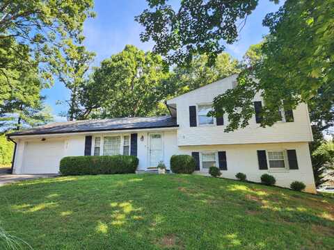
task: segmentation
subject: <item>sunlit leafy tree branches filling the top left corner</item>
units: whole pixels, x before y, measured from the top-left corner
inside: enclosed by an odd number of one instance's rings
[[[26,48],[35,62],[49,62],[54,58],[50,51],[55,47],[61,50],[61,41],[82,39],[85,19],[94,16],[92,8],[93,0],[0,1],[1,49],[22,64],[26,64],[25,53],[22,53]],[[20,67],[19,64],[17,66]],[[13,67],[13,63],[1,57],[0,69],[8,67]],[[40,73],[45,79],[51,77],[44,67],[40,67]],[[3,70],[0,70],[1,74],[4,74]]]

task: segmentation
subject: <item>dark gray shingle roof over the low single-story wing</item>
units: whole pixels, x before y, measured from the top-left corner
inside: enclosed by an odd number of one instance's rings
[[[125,117],[100,120],[84,120],[72,122],[55,122],[35,128],[8,134],[14,135],[43,135],[50,133],[77,133],[90,131],[117,131],[141,128],[177,127],[176,118],[164,117]]]

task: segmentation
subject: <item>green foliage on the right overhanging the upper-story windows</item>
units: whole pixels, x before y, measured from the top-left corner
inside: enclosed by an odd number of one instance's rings
[[[279,108],[299,103],[310,105],[319,124],[333,125],[333,8],[332,0],[289,0],[265,17],[269,35],[246,53],[252,67],[239,75],[237,88],[214,100],[217,110],[228,113],[227,131],[248,125],[256,92],[264,99],[261,126],[273,125]]]

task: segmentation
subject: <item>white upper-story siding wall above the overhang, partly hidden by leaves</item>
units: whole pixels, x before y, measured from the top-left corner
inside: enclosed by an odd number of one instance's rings
[[[225,125],[228,124],[226,115],[223,126],[190,127],[189,106],[212,103],[214,97],[232,88],[232,82],[236,81],[236,78],[237,75],[233,75],[168,100],[168,104],[177,106],[177,124],[180,126],[177,133],[179,146],[312,141],[308,107],[305,104],[299,105],[293,111],[294,122],[278,122],[267,128],[261,128],[260,124],[256,124],[255,116],[253,116],[246,128],[225,133]],[[260,100],[260,95],[257,94],[255,101]]]

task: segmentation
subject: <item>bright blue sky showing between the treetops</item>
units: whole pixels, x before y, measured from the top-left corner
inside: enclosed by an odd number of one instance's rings
[[[180,0],[170,0],[173,6]],[[124,49],[126,44],[134,44],[136,47],[148,51],[152,49],[152,42],[142,43],[139,34],[143,31],[140,24],[134,21],[146,8],[145,0],[95,0],[95,12],[97,17],[88,19],[84,24],[84,42],[88,51],[95,51],[97,54],[93,66],[100,65],[105,58],[113,53]],[[241,59],[251,44],[262,40],[268,29],[262,26],[262,19],[268,12],[278,10],[279,6],[269,0],[260,0],[259,6],[247,19],[239,39],[232,45],[228,45],[226,51],[234,58]],[[58,100],[69,99],[69,92],[56,81],[53,87],[42,90],[47,96],[46,103],[51,106],[56,122],[65,120],[59,117],[60,113],[67,111],[67,106],[56,105]]]

